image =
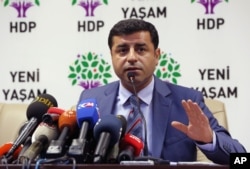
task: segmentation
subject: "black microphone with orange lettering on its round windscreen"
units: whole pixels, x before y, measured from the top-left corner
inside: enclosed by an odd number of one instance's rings
[[[7,158],[10,157],[14,151],[26,140],[26,138],[33,133],[34,129],[42,121],[43,114],[45,114],[50,107],[57,107],[57,101],[49,94],[38,95],[31,102],[26,111],[28,123],[13,142],[12,147],[6,154]]]

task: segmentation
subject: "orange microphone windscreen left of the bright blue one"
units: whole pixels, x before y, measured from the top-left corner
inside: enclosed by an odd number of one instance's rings
[[[58,119],[58,127],[60,131],[67,126],[70,129],[70,133],[73,133],[76,125],[76,111],[74,110],[63,112]]]

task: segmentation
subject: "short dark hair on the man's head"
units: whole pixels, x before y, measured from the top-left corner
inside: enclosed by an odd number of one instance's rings
[[[112,48],[114,36],[129,35],[139,31],[148,31],[151,36],[151,41],[154,44],[154,48],[158,48],[159,36],[152,23],[141,19],[126,19],[116,23],[110,30],[108,36],[109,49]]]

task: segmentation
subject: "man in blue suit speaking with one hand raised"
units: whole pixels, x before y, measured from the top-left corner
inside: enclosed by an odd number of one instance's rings
[[[198,146],[214,163],[229,164],[230,153],[246,152],[245,148],[218,124],[200,92],[154,76],[160,56],[158,43],[153,24],[138,19],[119,21],[110,30],[108,45],[120,80],[83,91],[80,101],[95,98],[101,117],[127,117],[127,100],[136,91],[147,124],[146,155],[176,162],[195,161]],[[128,72],[133,73],[135,88]]]

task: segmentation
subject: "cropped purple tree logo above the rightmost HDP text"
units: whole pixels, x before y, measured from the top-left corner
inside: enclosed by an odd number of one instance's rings
[[[191,0],[191,3],[196,2],[197,0]],[[214,8],[223,0],[198,0],[197,3],[201,4],[205,8],[205,14],[214,14]],[[229,0],[224,0],[228,2]]]

